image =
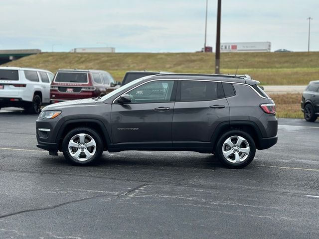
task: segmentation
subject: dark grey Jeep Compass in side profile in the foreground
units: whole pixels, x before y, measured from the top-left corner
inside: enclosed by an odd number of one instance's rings
[[[259,82],[236,76],[160,74],[96,99],[47,106],[37,146],[86,165],[103,151],[214,153],[232,168],[277,142],[274,102]]]

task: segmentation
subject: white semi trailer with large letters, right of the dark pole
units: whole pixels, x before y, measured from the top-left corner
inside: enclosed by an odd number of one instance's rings
[[[220,52],[270,52],[271,42],[220,43]]]

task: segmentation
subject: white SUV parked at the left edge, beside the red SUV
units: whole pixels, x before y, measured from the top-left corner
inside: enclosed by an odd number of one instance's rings
[[[50,103],[52,72],[33,68],[0,67],[0,109],[19,107],[38,114]]]

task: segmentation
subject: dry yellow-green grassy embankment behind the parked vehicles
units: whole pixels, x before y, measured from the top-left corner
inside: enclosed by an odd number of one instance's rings
[[[214,73],[213,53],[41,53],[7,63],[52,71],[100,69],[122,81],[129,70]],[[263,85],[307,85],[319,79],[319,52],[222,53],[221,72],[249,74]]]

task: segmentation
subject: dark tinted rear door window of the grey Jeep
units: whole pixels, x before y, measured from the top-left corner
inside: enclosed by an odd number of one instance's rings
[[[181,81],[180,101],[211,101],[222,97],[220,82]]]

